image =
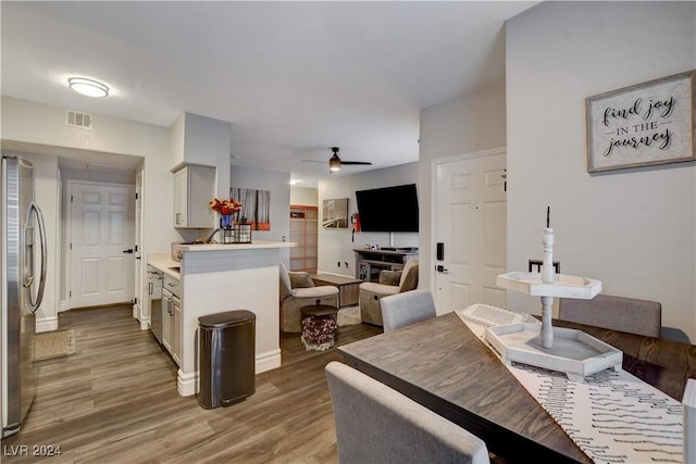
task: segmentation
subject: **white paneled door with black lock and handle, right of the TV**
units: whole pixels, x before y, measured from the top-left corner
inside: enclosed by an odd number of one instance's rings
[[[472,303],[506,305],[506,292],[496,285],[507,260],[505,167],[502,151],[436,166],[433,249],[442,251],[434,279],[440,311]]]

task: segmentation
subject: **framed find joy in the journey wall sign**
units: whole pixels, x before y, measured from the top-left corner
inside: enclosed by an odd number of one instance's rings
[[[696,160],[695,74],[586,98],[587,172]]]

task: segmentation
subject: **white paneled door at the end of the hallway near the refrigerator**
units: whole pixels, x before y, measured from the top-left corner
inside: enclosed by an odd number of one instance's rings
[[[135,189],[71,184],[71,308],[134,298]]]

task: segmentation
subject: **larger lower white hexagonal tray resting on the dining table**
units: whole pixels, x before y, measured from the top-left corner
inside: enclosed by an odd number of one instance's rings
[[[613,368],[621,371],[623,352],[584,331],[554,327],[552,348],[543,348],[540,325],[510,324],[487,327],[485,338],[506,365],[512,361],[566,373],[574,381]]]

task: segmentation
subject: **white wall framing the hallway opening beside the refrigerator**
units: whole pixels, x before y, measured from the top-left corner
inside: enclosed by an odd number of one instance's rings
[[[2,143],[11,145],[38,166],[37,197],[47,216],[47,228],[52,230],[49,254],[53,276],[60,260],[60,181],[59,156],[79,159],[86,151],[142,156],[146,164],[144,208],[146,253],[170,251],[170,243],[178,239],[172,227],[174,189],[170,168],[170,130],[136,122],[92,115],[94,129],[69,127],[64,124],[65,109],[48,104],[2,97]],[[47,154],[48,153],[48,154]],[[49,208],[50,205],[50,208]],[[49,211],[49,210],[52,210]],[[51,214],[52,213],[52,214]],[[50,224],[48,224],[50,223]],[[144,261],[147,256],[144,255]],[[60,311],[60,288],[47,288],[45,303],[39,313],[40,324],[53,321]]]

